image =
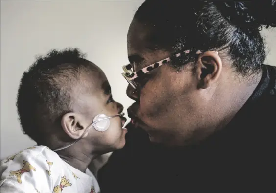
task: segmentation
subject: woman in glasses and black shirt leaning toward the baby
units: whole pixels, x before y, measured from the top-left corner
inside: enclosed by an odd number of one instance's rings
[[[103,193],[275,189],[276,68],[263,64],[262,26],[276,27],[276,0],[139,7],[123,73],[132,123],[99,172]]]

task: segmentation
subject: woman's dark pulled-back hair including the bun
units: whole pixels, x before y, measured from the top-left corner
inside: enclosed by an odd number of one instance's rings
[[[259,31],[276,27],[276,0],[146,0],[134,18],[152,28],[157,48],[224,51],[236,72],[251,75],[265,60]]]

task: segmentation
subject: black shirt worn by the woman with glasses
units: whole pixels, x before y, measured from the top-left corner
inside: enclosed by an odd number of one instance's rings
[[[131,128],[100,169],[102,193],[276,193],[276,67],[224,129],[198,145],[169,149]]]

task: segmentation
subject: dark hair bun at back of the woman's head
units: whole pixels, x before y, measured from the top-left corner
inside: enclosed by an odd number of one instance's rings
[[[276,0],[215,2],[231,24],[249,30],[276,27]]]

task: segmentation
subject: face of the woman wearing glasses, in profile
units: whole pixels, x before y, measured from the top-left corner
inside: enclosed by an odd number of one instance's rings
[[[153,49],[147,41],[149,30],[135,20],[129,28],[128,57],[134,72],[171,55]],[[199,105],[203,96],[191,65],[177,71],[164,64],[139,77],[138,82],[142,86],[137,91],[130,85],[127,88],[127,95],[135,100],[128,115],[135,126],[147,131],[152,142],[180,145],[194,134],[202,116]]]

